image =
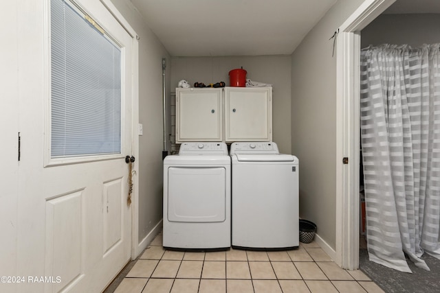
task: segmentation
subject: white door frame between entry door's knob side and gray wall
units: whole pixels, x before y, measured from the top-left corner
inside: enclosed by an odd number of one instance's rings
[[[120,23],[124,30],[133,39],[133,78],[132,78],[132,101],[131,119],[133,141],[131,153],[137,161],[133,164],[133,194],[131,196],[131,259],[135,259],[141,253],[139,247],[139,36],[124,16],[119,12],[111,0],[100,0],[102,5],[109,10],[113,17]]]

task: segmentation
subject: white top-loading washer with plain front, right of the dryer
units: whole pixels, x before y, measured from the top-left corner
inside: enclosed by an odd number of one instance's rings
[[[299,245],[299,161],[274,142],[232,143],[232,247]]]

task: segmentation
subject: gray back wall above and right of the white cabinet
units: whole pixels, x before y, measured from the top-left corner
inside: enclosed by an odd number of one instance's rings
[[[172,58],[170,87],[175,91],[179,80],[188,80],[191,86],[220,81],[229,86],[229,71],[243,67],[248,79],[273,85],[273,141],[280,152],[290,153],[291,65],[290,56]]]

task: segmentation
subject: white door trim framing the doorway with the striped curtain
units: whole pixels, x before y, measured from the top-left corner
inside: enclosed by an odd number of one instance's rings
[[[359,268],[360,31],[396,0],[365,0],[339,27],[337,47],[336,263]],[[342,164],[344,157],[349,163]]]

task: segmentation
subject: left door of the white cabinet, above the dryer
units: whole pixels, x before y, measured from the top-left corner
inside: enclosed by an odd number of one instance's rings
[[[176,142],[222,141],[221,89],[176,89]]]

